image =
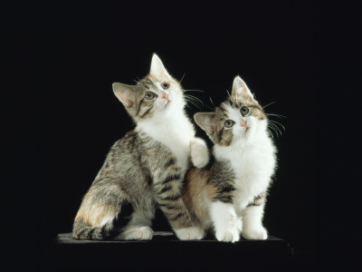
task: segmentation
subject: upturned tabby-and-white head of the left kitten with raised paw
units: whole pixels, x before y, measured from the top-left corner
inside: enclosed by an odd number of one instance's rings
[[[156,53],[148,75],[136,85],[113,83],[112,87],[135,121],[162,117],[182,110],[186,104],[180,83],[167,73]]]

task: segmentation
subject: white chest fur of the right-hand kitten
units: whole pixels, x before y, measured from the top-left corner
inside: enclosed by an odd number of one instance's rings
[[[244,209],[252,199],[268,189],[275,168],[275,148],[269,138],[257,143],[234,142],[214,146],[216,159],[229,160],[235,172],[234,205]]]

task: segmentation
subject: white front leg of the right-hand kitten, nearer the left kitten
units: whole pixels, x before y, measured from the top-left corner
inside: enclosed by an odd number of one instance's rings
[[[234,243],[240,239],[240,222],[233,204],[214,201],[210,206],[210,215],[217,240]]]

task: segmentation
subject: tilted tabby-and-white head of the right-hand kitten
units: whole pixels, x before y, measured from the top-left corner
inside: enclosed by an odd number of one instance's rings
[[[252,141],[258,133],[267,133],[267,118],[262,106],[243,80],[236,76],[233,92],[214,112],[197,112],[195,122],[215,144],[232,145],[234,141]]]

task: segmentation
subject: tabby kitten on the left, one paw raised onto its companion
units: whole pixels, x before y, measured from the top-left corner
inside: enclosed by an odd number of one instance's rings
[[[137,123],[134,131],[116,141],[97,177],[81,201],[73,224],[73,238],[105,239],[114,235],[122,206],[133,213],[120,238],[151,239],[151,220],[157,206],[166,215],[177,238],[198,239],[180,195],[191,153],[197,167],[208,162],[205,142],[195,139],[187,119],[184,93],[157,54],[150,73],[136,85],[113,83],[113,92]]]

